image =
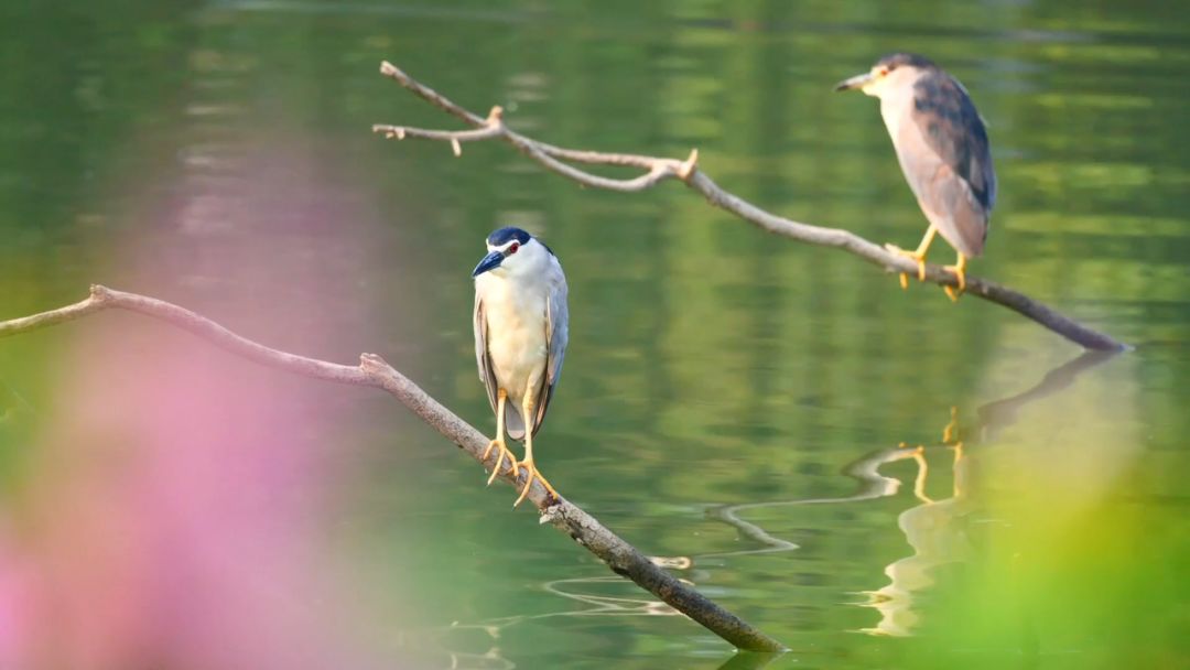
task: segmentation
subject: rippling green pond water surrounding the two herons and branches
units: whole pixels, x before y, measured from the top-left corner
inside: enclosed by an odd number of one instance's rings
[[[1190,23],[1177,4],[0,12],[0,317],[96,281],[154,293],[277,346],[381,352],[488,428],[468,271],[490,228],[519,223],[570,281],[543,471],[793,649],[756,663],[1173,668],[1190,652]],[[1079,358],[1004,309],[902,292],[677,184],[580,189],[506,146],[455,158],[368,132],[450,124],[376,74],[388,58],[474,109],[502,105],[549,142],[697,146],[704,170],[762,207],[909,245],[925,224],[876,104],[831,94],[892,49],[946,65],[989,121],[1001,200],[971,273],[1136,351]],[[334,336],[303,334],[324,320]],[[46,522],[27,491],[52,497],[54,474],[21,447],[50,432],[63,352],[88,327],[0,343],[17,525]],[[477,467],[392,403],[331,389],[306,411],[332,406],[350,420],[334,446],[319,443],[336,480],[311,515],[344,593],[359,594],[338,613],[359,655],[457,668],[754,660],[731,659],[512,513],[509,490],[484,489]]]

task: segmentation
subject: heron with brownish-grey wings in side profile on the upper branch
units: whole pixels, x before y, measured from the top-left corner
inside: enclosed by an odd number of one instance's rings
[[[946,269],[954,273],[962,292],[967,258],[983,251],[996,203],[996,171],[979,112],[957,79],[914,54],[884,56],[871,71],[839,82],[835,90],[857,88],[881,99],[881,117],[904,179],[929,220],[915,251],[885,248],[916,261],[917,278],[925,280],[926,251],[941,233],[958,252],[958,261]],[[906,286],[904,275],[901,284]],[[956,300],[951,287],[945,288]]]

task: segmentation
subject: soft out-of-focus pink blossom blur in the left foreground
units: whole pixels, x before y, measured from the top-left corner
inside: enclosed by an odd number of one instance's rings
[[[202,162],[231,179],[188,175],[108,274],[350,362],[378,330],[377,296],[358,287],[390,233],[317,151],[253,156]],[[0,668],[402,665],[353,639],[369,613],[327,540],[367,392],[263,369],[143,315],[62,328],[27,484],[0,519]]]

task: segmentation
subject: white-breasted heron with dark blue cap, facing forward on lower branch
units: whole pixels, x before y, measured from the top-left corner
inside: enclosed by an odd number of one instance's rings
[[[496,439],[483,452],[500,450],[488,477],[496,478],[505,458],[513,476],[524,468],[525,488],[513,507],[538,480],[555,497],[550,482],[533,464],[533,434],[562,375],[566,356],[566,276],[550,248],[527,232],[506,227],[488,236],[488,255],[471,273],[475,277],[475,361],[488,402],[496,413]],[[505,444],[505,432],[525,440],[520,463]]]

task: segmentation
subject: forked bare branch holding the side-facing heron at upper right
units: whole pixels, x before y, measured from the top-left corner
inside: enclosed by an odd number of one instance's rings
[[[418,82],[388,61],[381,63],[380,71],[422,100],[476,129],[469,131],[434,131],[383,124],[372,126],[372,132],[381,133],[388,138],[403,139],[406,137],[419,137],[450,142],[455,148],[456,156],[461,154],[459,142],[502,139],[551,171],[558,173],[583,186],[607,190],[638,192],[652,188],[670,179],[678,180],[689,188],[701,193],[710,205],[726,209],[768,232],[807,244],[843,249],[888,271],[908,275],[916,275],[917,273],[917,265],[913,261],[892,253],[883,246],[873,244],[850,231],[814,226],[778,217],[724,190],[706,173],[697,169],[697,150],[691,151],[689,158],[685,161],[678,161],[676,158],[660,158],[634,154],[603,154],[599,151],[564,149],[509,130],[503,124],[500,107],[493,107],[487,118],[478,117]],[[566,163],[568,161],[591,165],[635,168],[643,170],[644,174],[627,180],[610,179],[575,168]],[[925,281],[939,286],[958,287],[954,275],[939,265],[926,265]],[[966,293],[1008,307],[1085,349],[1100,351],[1121,351],[1128,349],[1127,345],[1113,337],[1089,328],[1020,292],[990,280],[967,275]]]

